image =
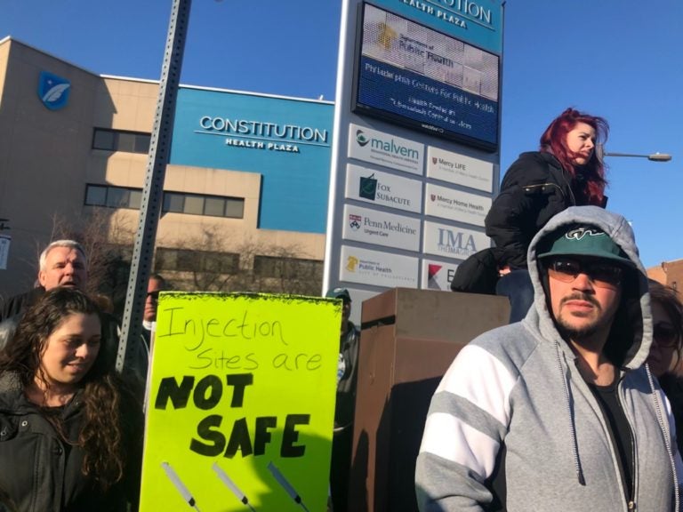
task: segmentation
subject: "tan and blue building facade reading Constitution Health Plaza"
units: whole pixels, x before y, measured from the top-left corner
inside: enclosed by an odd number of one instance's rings
[[[0,297],[34,284],[55,238],[86,238],[91,267],[130,258],[157,95],[0,41]],[[186,290],[318,293],[332,123],[327,101],[181,86],[155,270]]]

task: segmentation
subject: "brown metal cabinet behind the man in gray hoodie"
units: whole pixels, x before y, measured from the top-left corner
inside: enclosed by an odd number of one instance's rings
[[[430,399],[460,348],[508,323],[507,298],[396,288],[363,302],[349,512],[415,512]]]

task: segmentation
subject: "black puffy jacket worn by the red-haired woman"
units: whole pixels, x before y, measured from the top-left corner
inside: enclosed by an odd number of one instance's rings
[[[526,268],[526,250],[546,222],[569,206],[588,204],[579,180],[550,153],[522,153],[510,165],[486,215],[486,235],[502,249],[502,267]]]

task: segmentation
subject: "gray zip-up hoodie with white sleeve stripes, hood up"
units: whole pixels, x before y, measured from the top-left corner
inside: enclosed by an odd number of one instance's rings
[[[623,308],[605,349],[619,369],[618,397],[632,431],[632,500],[604,414],[550,316],[537,266],[538,244],[576,223],[605,231],[636,266],[624,278]],[[526,318],[462,348],[432,398],[415,475],[420,510],[678,510],[674,483],[683,468],[669,403],[643,366],[652,318],[628,222],[595,206],[570,207],[534,237],[528,268],[535,297]]]

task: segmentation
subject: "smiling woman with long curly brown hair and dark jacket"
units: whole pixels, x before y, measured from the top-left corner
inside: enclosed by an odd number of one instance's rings
[[[95,302],[58,287],[0,353],[0,488],[22,512],[137,508],[141,403],[101,339]]]

